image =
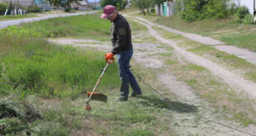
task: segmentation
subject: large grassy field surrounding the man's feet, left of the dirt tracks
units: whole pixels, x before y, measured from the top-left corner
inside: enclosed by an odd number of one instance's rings
[[[117,102],[120,79],[116,63],[97,87],[97,92],[107,94],[108,102],[91,101],[92,110],[83,109],[86,92],[92,91],[106,65],[105,53],[53,45],[45,38],[110,40],[111,23],[99,16],[55,18],[0,31],[0,134],[175,135],[169,126],[171,111],[183,112],[183,106],[189,106],[178,103],[171,107],[172,103],[145,87],[141,99]],[[132,26],[135,28],[145,29]],[[135,67],[153,78],[154,74],[141,68]]]

